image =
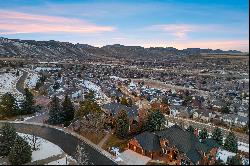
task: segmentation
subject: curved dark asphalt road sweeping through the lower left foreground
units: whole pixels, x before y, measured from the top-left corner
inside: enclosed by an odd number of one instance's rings
[[[0,121],[0,127],[6,122],[7,121]],[[69,154],[73,158],[76,156],[77,145],[83,143],[83,148],[86,153],[88,153],[89,162],[94,165],[117,165],[117,163],[112,160],[112,155],[110,153],[99,148],[97,145],[75,132],[37,123],[13,121],[9,121],[9,123],[16,128],[17,132],[34,134],[58,145],[65,153]]]

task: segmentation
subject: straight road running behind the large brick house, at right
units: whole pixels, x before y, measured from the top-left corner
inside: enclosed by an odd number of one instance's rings
[[[208,130],[208,132],[210,132],[210,133],[212,133],[213,130],[217,127],[211,123],[201,123],[201,122],[197,122],[194,120],[188,120],[188,119],[177,118],[177,117],[174,118],[174,117],[170,117],[168,115],[166,115],[165,117],[169,122],[177,123],[179,125],[182,125],[182,124],[185,126],[191,125],[194,128],[198,128],[198,129],[206,128]],[[219,127],[219,128],[221,128],[221,130],[222,130],[223,137],[227,137],[229,130],[222,128],[222,127]],[[236,137],[238,138],[238,141],[249,144],[249,135],[242,134],[242,133],[236,133],[236,132],[234,132],[234,133],[235,133]]]

